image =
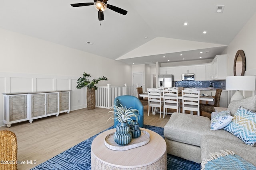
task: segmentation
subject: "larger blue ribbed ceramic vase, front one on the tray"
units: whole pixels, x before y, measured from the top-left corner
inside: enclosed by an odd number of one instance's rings
[[[116,125],[116,132],[114,133],[114,141],[118,145],[127,145],[132,141],[132,133],[128,123],[118,123]]]

